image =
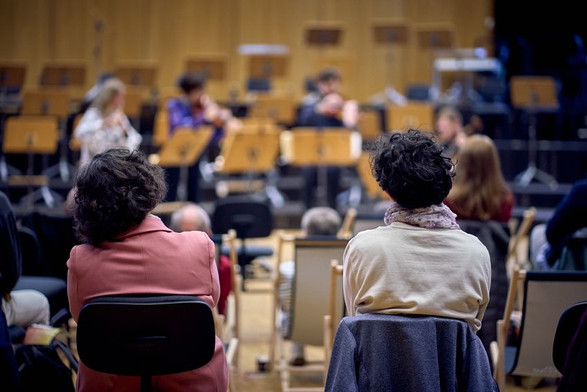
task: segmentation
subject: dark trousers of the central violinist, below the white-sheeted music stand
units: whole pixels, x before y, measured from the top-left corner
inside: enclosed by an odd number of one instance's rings
[[[336,209],[336,196],[340,193],[340,167],[307,166],[302,169],[302,174],[304,176],[302,195],[306,208],[328,205]],[[326,194],[322,196],[317,194],[320,189]]]

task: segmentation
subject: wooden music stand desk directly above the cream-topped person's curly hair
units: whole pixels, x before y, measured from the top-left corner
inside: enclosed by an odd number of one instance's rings
[[[409,129],[434,131],[434,107],[430,104],[388,105],[385,113],[389,132],[407,132]]]

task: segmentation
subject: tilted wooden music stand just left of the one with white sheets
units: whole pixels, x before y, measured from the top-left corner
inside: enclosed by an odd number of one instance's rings
[[[229,133],[222,144],[215,165],[220,174],[244,174],[248,192],[253,192],[254,178],[258,174],[267,176],[264,196],[276,207],[285,203],[277,189],[275,162],[279,155],[280,129],[273,124],[244,126],[240,131]]]

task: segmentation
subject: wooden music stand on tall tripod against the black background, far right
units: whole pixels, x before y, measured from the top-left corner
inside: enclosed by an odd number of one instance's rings
[[[516,176],[516,181],[527,186],[532,180],[555,189],[557,180],[546,171],[538,169],[536,165],[537,141],[537,114],[555,113],[559,110],[557,99],[557,84],[550,76],[512,76],[510,80],[512,105],[528,113],[528,167]]]

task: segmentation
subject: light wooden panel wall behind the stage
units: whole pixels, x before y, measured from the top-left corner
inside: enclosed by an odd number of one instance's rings
[[[159,68],[157,86],[169,88],[186,57],[211,54],[227,58],[227,80],[209,86],[227,100],[231,88],[244,96],[248,63],[238,55],[240,44],[285,44],[289,69],[274,81],[279,90],[302,96],[304,78],[331,60],[349,74],[343,75],[345,92],[366,101],[387,83],[403,91],[406,84],[430,82],[430,50],[418,47],[417,26],[452,24],[457,44],[470,47],[490,34],[483,21],[492,16],[492,0],[0,0],[0,10],[0,61],[27,62],[29,86],[45,62],[68,60],[87,64],[87,87],[99,70],[146,63]],[[408,44],[375,44],[371,28],[378,19],[407,21]],[[340,46],[307,47],[311,21],[344,26]]]

